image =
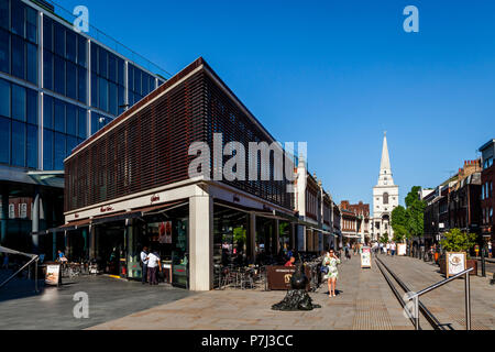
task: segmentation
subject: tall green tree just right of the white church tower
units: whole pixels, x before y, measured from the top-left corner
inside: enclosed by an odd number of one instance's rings
[[[392,211],[391,226],[397,238],[410,239],[424,234],[424,212],[426,202],[420,200],[419,186],[414,186],[407,194],[406,208],[398,206]]]

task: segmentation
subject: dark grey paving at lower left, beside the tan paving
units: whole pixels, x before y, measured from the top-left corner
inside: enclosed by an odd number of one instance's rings
[[[108,276],[81,276],[64,285],[44,287],[34,295],[33,282],[16,280],[0,289],[0,330],[85,329],[156,305],[194,296],[195,293],[167,285],[142,285]],[[74,318],[74,294],[89,297],[89,318]]]

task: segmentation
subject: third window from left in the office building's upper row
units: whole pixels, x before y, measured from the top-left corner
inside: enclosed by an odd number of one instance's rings
[[[124,61],[91,43],[91,106],[118,116],[124,110]]]

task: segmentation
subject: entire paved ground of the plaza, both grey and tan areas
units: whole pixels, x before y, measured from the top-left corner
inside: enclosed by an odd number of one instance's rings
[[[409,288],[421,289],[443,277],[438,266],[410,257],[381,255]],[[32,282],[31,282],[32,283]],[[495,329],[495,286],[472,277],[472,328]],[[15,288],[15,285],[13,286]],[[141,285],[106,276],[65,282],[40,295],[0,292],[0,329],[212,329],[212,330],[413,330],[411,322],[374,264],[361,268],[359,256],[340,266],[338,296],[323,284],[310,296],[312,311],[275,311],[285,292],[224,289],[191,293],[168,285]],[[32,292],[32,290],[31,290]],[[73,296],[89,296],[89,318],[76,319]],[[463,330],[464,282],[454,280],[421,298],[447,330]],[[16,297],[14,297],[16,296]],[[421,319],[421,328],[431,327]]]

